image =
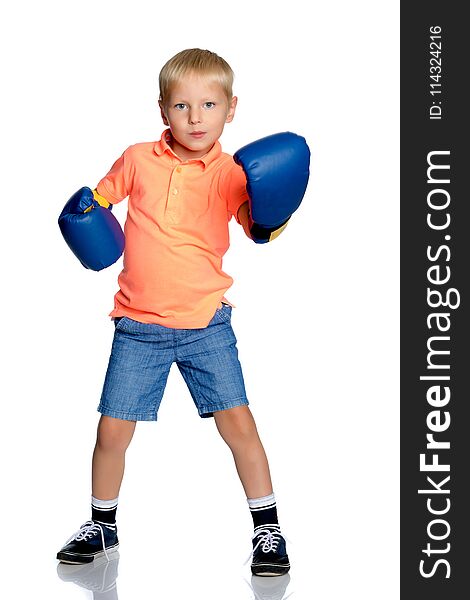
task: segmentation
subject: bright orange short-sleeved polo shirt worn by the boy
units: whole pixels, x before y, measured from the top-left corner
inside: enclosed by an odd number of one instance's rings
[[[160,141],[127,148],[98,183],[111,204],[126,197],[126,244],[112,317],[177,329],[206,327],[233,279],[222,270],[228,223],[248,200],[243,169],[217,141],[181,160]],[[239,222],[239,221],[238,221]]]

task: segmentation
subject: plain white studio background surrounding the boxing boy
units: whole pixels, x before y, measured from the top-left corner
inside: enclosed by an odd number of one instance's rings
[[[0,36],[0,594],[92,597],[59,579],[55,554],[89,518],[122,262],[83,269],[57,216],[127,146],[160,137],[160,68],[201,47],[236,75],[225,152],[280,131],[304,135],[312,152],[286,231],[255,246],[232,222],[224,262],[291,542],[286,594],[398,598],[398,2],[12,6]],[[125,211],[114,211],[122,223]],[[120,600],[255,598],[232,455],[175,366],[159,421],[137,426],[118,524]]]

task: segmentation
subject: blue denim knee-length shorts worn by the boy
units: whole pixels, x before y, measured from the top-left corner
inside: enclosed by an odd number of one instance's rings
[[[202,329],[116,319],[98,411],[128,421],[156,421],[174,362],[199,416],[211,417],[214,411],[247,405],[231,315],[232,307],[222,304]]]

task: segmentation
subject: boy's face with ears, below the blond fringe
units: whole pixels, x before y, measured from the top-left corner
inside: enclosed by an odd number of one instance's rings
[[[165,104],[159,102],[163,123],[171,129],[171,147],[182,160],[209,152],[235,115],[237,97],[230,104],[222,86],[190,73],[176,83]]]

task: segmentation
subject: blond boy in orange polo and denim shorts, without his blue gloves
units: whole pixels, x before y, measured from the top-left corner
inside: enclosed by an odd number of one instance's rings
[[[110,313],[115,333],[98,407],[92,517],[58,552],[62,562],[91,562],[117,549],[125,452],[136,422],[157,419],[176,362],[199,415],[214,417],[233,453],[253,517],[253,574],[289,570],[268,461],[248,408],[232,307],[224,297],[233,280],[221,268],[232,216],[259,241],[273,239],[286,219],[272,227],[254,222],[244,172],[249,167],[221,151],[218,139],[237,105],[232,82],[230,66],[208,50],[184,50],[170,59],[159,77],[168,129],[158,142],[128,148],[93,192],[103,207],[129,197],[124,268]]]

